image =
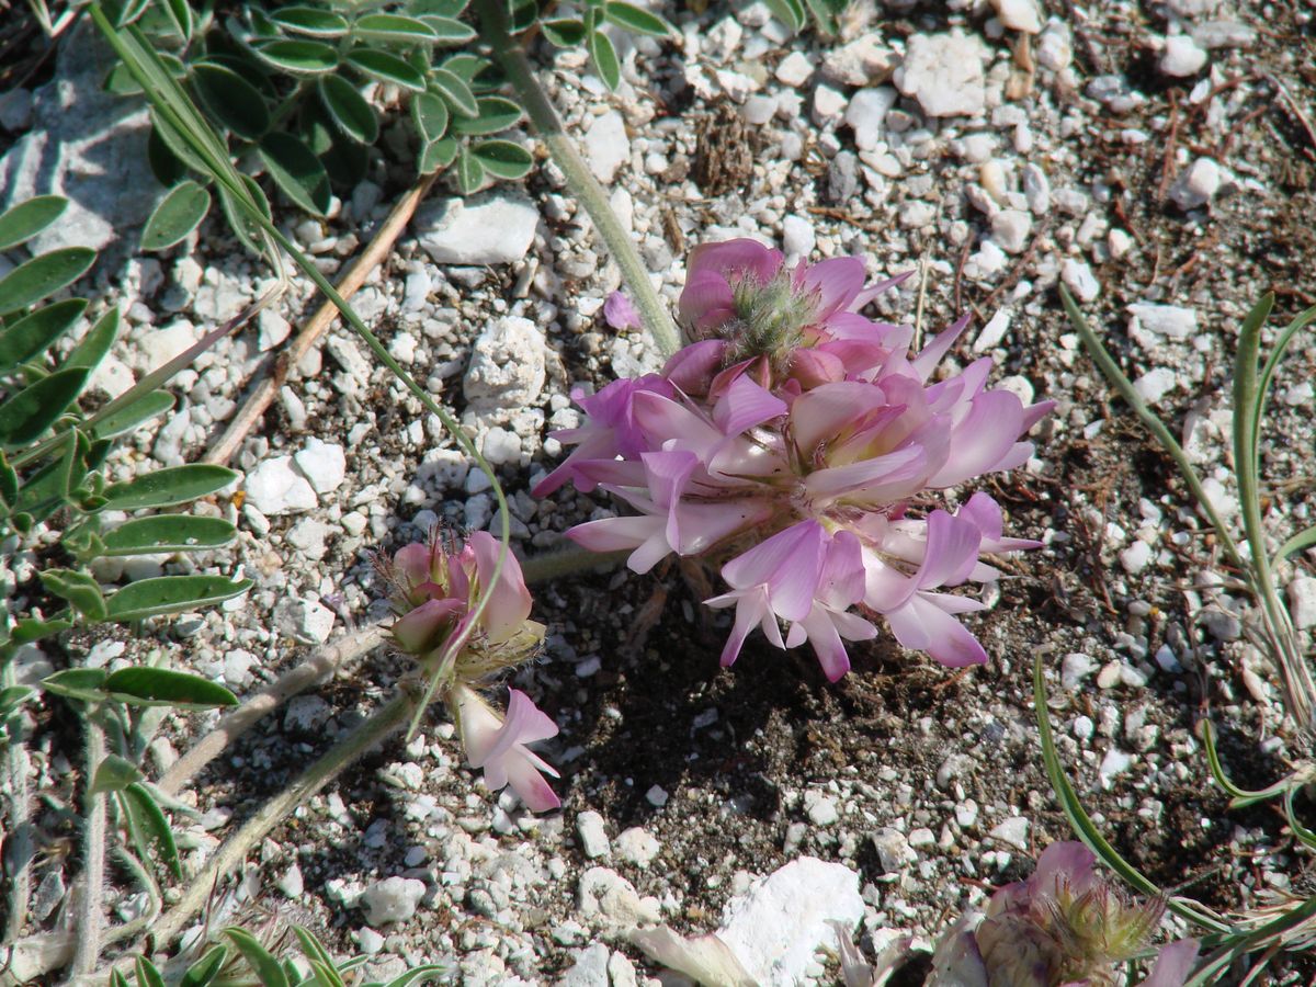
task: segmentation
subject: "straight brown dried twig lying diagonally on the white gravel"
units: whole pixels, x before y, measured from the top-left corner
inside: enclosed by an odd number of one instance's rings
[[[411,222],[411,217],[429,192],[430,186],[434,184],[437,175],[424,176],[397,200],[397,204],[393,205],[392,212],[388,213],[379,232],[375,233],[374,238],[357,259],[351,262],[351,267],[347,268],[342,280],[338,282],[337,288],[340,295],[350,299],[366,283],[366,278],[383,262],[388,251],[392,250],[393,243],[397,242],[397,237],[401,236],[407,224]],[[274,361],[268,376],[257,383],[255,388],[247,396],[246,404],[242,405],[233,417],[233,421],[229,422],[228,429],[220,436],[220,440],[211,446],[204,462],[222,466],[233,458],[233,454],[242,445],[242,440],[246,438],[251,426],[259,421],[266,408],[274,401],[275,395],[279,393],[279,388],[288,379],[288,374],[307,355],[311,347],[315,346],[316,341],[324,336],[325,330],[333,325],[337,317],[338,307],[333,301],[325,301],[316,309],[316,313],[311,316],[311,321],[303,326],[296,338]]]

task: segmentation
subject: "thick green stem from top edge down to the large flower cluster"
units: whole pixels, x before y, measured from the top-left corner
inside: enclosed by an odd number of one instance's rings
[[[480,37],[494,49],[494,58],[516,87],[530,122],[549,146],[553,161],[562,168],[572,193],[590,213],[604,245],[621,267],[621,276],[636,296],[636,307],[640,309],[645,329],[663,355],[670,357],[680,349],[676,324],[672,322],[666,303],[654,291],[649,270],[636,253],[630,234],[608,204],[607,191],[590,172],[575,143],[566,136],[553,104],[534,78],[534,68],[521,46],[508,33],[505,7],[504,0],[475,0],[475,9],[480,17]]]

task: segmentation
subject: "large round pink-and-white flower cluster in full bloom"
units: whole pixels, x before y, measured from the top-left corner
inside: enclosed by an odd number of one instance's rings
[[[1036,546],[1003,537],[986,494],[954,511],[937,494],[1023,465],[1051,403],[988,390],[990,359],[929,383],[967,317],[913,354],[911,326],[861,315],[903,278],[865,280],[857,258],[790,268],[754,241],[700,246],[679,303],[695,342],[661,374],[572,395],[587,421],[555,433],[575,447],[537,495],[571,482],[634,511],[574,541],[629,549],[637,572],[670,553],[728,559],[728,592],[707,600],[734,607],[724,665],[757,626],[808,641],[836,680],[879,615],[945,665],[984,662],[957,620],[982,604],[945,590],[995,579],[984,553]]]

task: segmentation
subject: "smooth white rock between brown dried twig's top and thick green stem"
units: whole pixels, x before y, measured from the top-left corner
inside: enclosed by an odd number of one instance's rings
[[[499,265],[525,257],[538,221],[540,213],[529,199],[503,192],[445,199],[422,208],[413,228],[434,263]]]

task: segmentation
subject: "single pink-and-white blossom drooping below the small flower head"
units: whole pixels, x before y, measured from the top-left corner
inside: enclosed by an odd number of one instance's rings
[[[505,719],[466,686],[453,690],[453,703],[466,759],[471,767],[483,769],[490,791],[511,784],[532,812],[562,804],[544,779],[546,774],[559,778],[558,772],[525,746],[555,737],[558,725],[528,695],[509,690]]]

